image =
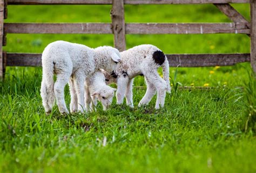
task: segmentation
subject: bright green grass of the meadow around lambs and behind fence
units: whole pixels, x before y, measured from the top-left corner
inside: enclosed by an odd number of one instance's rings
[[[249,6],[234,5],[249,19]],[[6,22],[111,22],[110,5],[8,6]],[[230,22],[213,5],[126,5],[126,22]],[[9,52],[42,52],[55,40],[91,47],[113,45],[112,35],[8,34]],[[128,35],[127,47],[154,44],[165,53],[248,53],[239,34]],[[134,109],[46,116],[39,94],[41,68],[8,67],[0,95],[0,172],[255,172],[256,139],[245,132],[255,82],[247,63],[232,67],[179,68],[184,86],[166,96],[165,108],[137,108],[145,88],[134,87]],[[171,68],[173,78],[176,68]],[[160,72],[160,71],[159,71]],[[235,88],[254,84],[244,90]],[[137,77],[135,86],[145,86]],[[224,87],[225,86],[225,87]],[[253,93],[253,94],[252,94]],[[250,95],[251,94],[251,95]],[[70,102],[68,87],[66,103]],[[255,106],[255,105],[254,105]],[[253,124],[254,123],[254,124]],[[251,125],[252,124],[252,125]],[[104,139],[106,145],[104,146]]]

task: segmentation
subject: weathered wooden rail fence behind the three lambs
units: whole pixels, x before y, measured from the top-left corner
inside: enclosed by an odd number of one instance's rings
[[[229,3],[250,3],[251,22]],[[7,5],[14,4],[112,4],[112,23],[4,23]],[[124,4],[213,4],[232,23],[125,23]],[[125,34],[247,34],[251,38],[251,54],[167,54],[167,58],[170,66],[182,67],[229,66],[251,61],[256,72],[256,0],[0,0],[0,31],[0,78],[6,66],[41,66],[39,53],[3,52],[7,33],[113,34],[119,51],[126,49]]]

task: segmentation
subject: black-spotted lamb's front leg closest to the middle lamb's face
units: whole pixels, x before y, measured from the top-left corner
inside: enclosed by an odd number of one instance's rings
[[[117,79],[117,92],[116,92],[116,97],[117,97],[117,104],[120,105],[124,101],[124,96],[125,96],[125,90],[128,84],[129,78],[126,77],[118,77]]]

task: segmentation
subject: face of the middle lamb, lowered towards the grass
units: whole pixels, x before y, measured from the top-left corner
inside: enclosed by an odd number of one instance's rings
[[[114,97],[114,91],[116,90],[117,89],[106,85],[93,93],[92,96],[96,96],[97,99],[102,103],[103,110],[106,110],[111,105]]]

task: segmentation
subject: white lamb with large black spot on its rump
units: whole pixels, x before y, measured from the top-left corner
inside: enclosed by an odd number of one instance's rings
[[[147,91],[139,102],[139,107],[147,105],[157,92],[156,109],[164,107],[166,91],[171,92],[169,81],[169,62],[165,54],[153,45],[139,45],[120,52],[122,60],[117,65],[116,73],[104,72],[108,84],[117,83],[117,103],[122,104],[124,96],[126,104],[133,107],[132,84],[137,75],[144,75]],[[164,80],[160,78],[157,69],[163,67]],[[116,79],[114,79],[116,78]]]

